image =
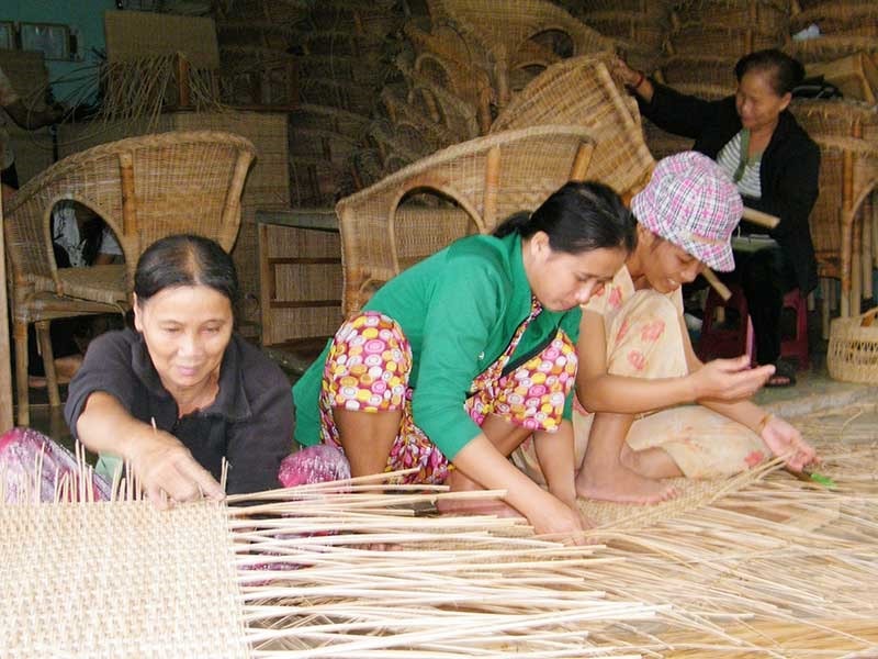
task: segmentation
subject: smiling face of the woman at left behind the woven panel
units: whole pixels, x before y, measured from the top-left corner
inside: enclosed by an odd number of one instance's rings
[[[171,394],[216,381],[233,324],[228,298],[206,286],[167,288],[144,303],[135,299],[134,325]]]

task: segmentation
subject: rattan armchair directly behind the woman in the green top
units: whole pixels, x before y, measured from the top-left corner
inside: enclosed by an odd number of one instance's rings
[[[583,126],[543,125],[449,147],[338,202],[342,311],[357,311],[405,267],[468,233],[537,208],[588,172],[594,138]],[[457,205],[412,211],[401,203],[429,190]],[[412,213],[417,222],[408,220]]]

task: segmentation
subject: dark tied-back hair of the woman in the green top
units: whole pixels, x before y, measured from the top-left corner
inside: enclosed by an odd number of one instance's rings
[[[516,213],[494,230],[504,237],[518,233],[529,238],[537,232],[549,236],[555,252],[581,254],[593,249],[635,246],[635,221],[611,188],[595,181],[569,182],[553,192],[532,213]]]

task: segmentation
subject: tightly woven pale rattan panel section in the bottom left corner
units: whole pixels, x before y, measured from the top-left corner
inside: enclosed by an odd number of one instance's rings
[[[215,504],[0,505],[0,657],[248,657]]]

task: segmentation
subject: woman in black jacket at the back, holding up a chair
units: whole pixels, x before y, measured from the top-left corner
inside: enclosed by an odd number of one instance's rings
[[[706,101],[660,85],[617,60],[614,75],[635,96],[641,112],[660,127],[693,137],[693,148],[717,160],[744,203],[780,219],[770,239],[735,250],[729,281],[741,284],[753,321],[756,359],[774,364],[768,387],[796,383],[792,365],[780,359],[784,294],[817,287],[817,259],[808,216],[818,197],[820,149],[788,107],[804,68],[780,51],[757,51],[734,67],[738,91]],[[765,230],[741,223],[743,234]]]

